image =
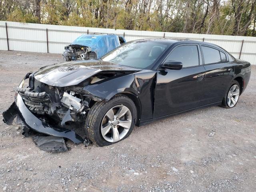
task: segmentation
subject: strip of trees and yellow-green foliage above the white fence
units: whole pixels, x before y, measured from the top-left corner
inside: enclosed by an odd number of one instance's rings
[[[0,0],[0,19],[255,36],[256,0]]]

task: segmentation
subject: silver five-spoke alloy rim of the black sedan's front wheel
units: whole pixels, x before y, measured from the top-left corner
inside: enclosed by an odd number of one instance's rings
[[[112,107],[101,122],[101,134],[108,142],[118,142],[128,133],[132,124],[132,114],[128,107],[117,105]]]

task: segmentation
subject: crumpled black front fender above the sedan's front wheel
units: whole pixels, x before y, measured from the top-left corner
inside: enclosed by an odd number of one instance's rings
[[[85,86],[89,94],[110,100],[116,94],[130,93],[138,97],[141,104],[140,120],[153,118],[156,88],[156,71],[143,70],[126,76]]]

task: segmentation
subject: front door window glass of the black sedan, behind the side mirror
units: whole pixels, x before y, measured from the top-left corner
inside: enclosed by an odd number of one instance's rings
[[[197,45],[182,45],[175,48],[167,57],[166,61],[182,62],[183,67],[199,65]]]

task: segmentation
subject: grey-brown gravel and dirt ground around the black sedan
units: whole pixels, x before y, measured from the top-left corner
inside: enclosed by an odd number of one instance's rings
[[[21,53],[21,56],[17,56]],[[60,54],[0,51],[0,118],[27,72]],[[136,127],[107,147],[40,150],[0,122],[0,191],[256,191],[256,66],[235,108],[194,110]],[[209,136],[216,130],[214,136]]]

